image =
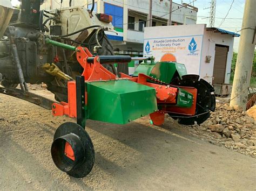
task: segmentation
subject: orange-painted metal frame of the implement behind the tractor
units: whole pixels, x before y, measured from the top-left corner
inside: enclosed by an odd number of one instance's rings
[[[80,65],[84,68],[82,76],[85,77],[85,82],[116,80],[116,75],[114,75],[109,70],[100,65],[99,56],[95,56],[93,63],[88,63],[87,58],[92,57],[93,55],[89,52],[87,48],[78,47],[77,49],[79,50],[77,52],[77,60],[80,63]],[[150,86],[156,90],[157,103],[161,109],[150,114],[150,118],[155,125],[161,125],[164,123],[164,117],[166,112],[172,112],[175,114],[182,114],[188,116],[195,115],[196,113],[196,88],[171,86],[170,84],[163,83],[145,74],[139,74],[138,77],[131,77],[129,75],[121,73],[121,79],[128,79],[133,82],[143,84],[145,86]],[[181,108],[176,106],[177,94],[179,91],[178,88],[182,88],[193,94],[192,107]],[[85,105],[87,104],[86,94],[87,93],[85,91]],[[76,82],[70,81],[68,82],[68,103],[53,103],[52,114],[54,116],[67,115],[69,117],[77,117],[76,104]]]

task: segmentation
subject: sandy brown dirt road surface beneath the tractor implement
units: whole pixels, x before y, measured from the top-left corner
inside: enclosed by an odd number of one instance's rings
[[[255,158],[194,137],[171,118],[161,127],[149,117],[126,125],[88,120],[95,166],[75,179],[50,154],[55,130],[73,119],[1,94],[0,108],[0,190],[256,190]]]

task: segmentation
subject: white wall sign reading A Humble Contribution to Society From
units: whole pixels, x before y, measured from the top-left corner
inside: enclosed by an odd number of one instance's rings
[[[188,74],[199,74],[205,25],[146,27],[144,56],[184,63]]]

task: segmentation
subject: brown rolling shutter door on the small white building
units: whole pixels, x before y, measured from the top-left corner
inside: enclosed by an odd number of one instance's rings
[[[215,45],[213,66],[213,84],[222,84],[225,81],[228,46]]]

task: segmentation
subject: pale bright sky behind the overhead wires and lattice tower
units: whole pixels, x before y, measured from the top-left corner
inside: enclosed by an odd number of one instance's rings
[[[164,0],[167,1],[167,0]],[[209,19],[205,18],[210,16],[210,9],[205,9],[210,6],[211,0],[183,0],[183,3],[191,3],[198,8],[197,24],[209,24]],[[242,26],[242,16],[244,15],[245,0],[216,0],[216,13],[215,13],[215,25],[227,31],[238,32]],[[232,4],[232,2],[234,3]],[[13,4],[17,4],[18,0],[12,0]],[[175,3],[180,3],[181,0],[173,0]],[[232,7],[231,7],[232,4]],[[230,9],[231,7],[231,9]],[[228,12],[228,9],[230,11]],[[228,15],[227,15],[228,13]],[[226,16],[227,15],[227,16]],[[223,18],[226,19],[223,21]],[[221,24],[222,23],[222,24]],[[234,38],[234,51],[238,51],[239,37]]]

